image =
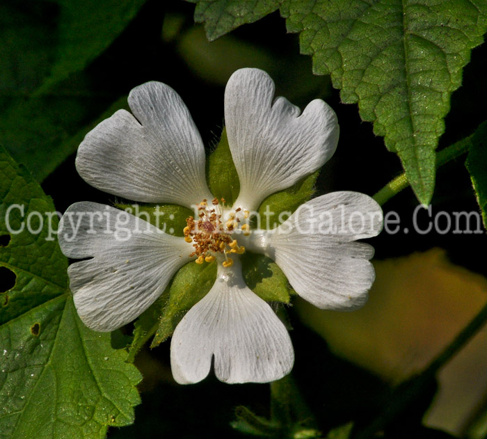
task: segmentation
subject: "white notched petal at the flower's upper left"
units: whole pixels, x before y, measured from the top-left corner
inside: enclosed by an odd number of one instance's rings
[[[211,198],[205,150],[198,129],[177,93],[160,82],[131,90],[135,117],[117,111],[79,145],[79,175],[97,189],[143,202],[191,207]]]

